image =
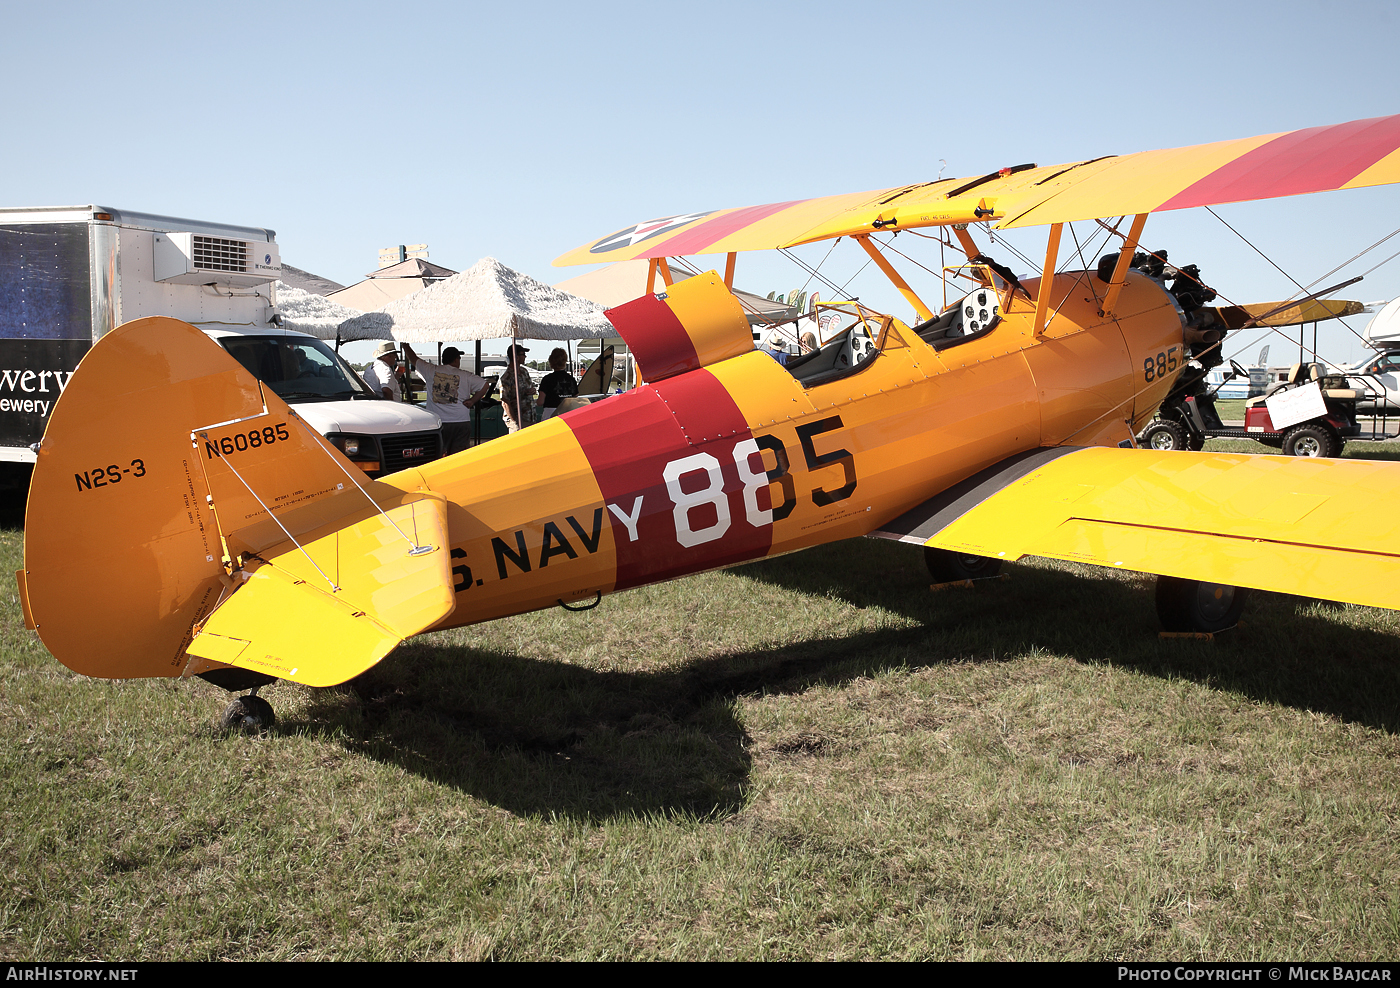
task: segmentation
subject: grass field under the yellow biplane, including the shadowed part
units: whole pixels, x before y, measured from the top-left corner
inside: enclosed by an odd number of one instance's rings
[[[0,595],[0,956],[1396,956],[1400,616],[1159,641],[1151,578],[1008,571],[833,544],[277,684],[258,738]]]

